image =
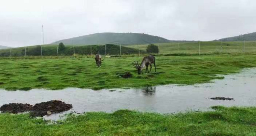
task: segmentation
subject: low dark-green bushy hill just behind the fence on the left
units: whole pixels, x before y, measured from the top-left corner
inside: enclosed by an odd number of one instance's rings
[[[59,50],[59,55],[73,55],[74,50],[75,54],[79,55],[90,55],[90,48],[92,54],[100,53],[105,55],[105,46],[104,45],[86,45],[86,46],[65,46],[65,49]],[[74,49],[74,50],[73,50]],[[129,47],[121,47],[122,54],[137,54],[138,49],[129,48]],[[43,56],[57,56],[57,45],[42,45]],[[141,53],[145,53],[145,51],[141,51]],[[109,55],[120,55],[120,46],[119,45],[106,45],[106,54]],[[41,46],[29,46],[26,47],[26,55],[27,56],[41,56]],[[2,49],[0,50],[0,57],[9,57],[10,50]],[[12,48],[12,56],[19,57],[25,56],[25,47]]]

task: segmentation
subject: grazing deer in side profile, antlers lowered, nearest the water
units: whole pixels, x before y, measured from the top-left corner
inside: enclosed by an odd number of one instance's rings
[[[146,67],[146,73],[150,73],[152,69],[152,64],[155,66],[155,72],[156,72],[156,58],[153,55],[145,56],[141,62],[141,64],[138,64],[138,61],[134,61],[132,63],[134,65],[134,68],[138,70],[138,74],[142,73],[142,70],[144,67]],[[148,65],[150,65],[150,71],[148,71]]]

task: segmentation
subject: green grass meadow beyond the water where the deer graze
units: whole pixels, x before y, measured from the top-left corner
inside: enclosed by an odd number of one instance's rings
[[[97,68],[94,58],[30,58],[0,59],[0,88],[29,90],[32,88],[63,89],[66,87],[140,88],[165,84],[197,84],[223,79],[216,74],[239,72],[256,67],[255,54],[156,56],[157,72],[138,75],[131,63],[143,56],[105,58]],[[131,72],[123,79],[119,74]]]

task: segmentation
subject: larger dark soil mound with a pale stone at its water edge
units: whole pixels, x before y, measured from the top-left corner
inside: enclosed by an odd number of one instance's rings
[[[35,104],[32,108],[30,116],[43,117],[44,115],[47,115],[47,114],[49,115],[49,113],[52,114],[52,113],[65,112],[71,108],[72,108],[71,104],[66,104],[65,102],[58,101],[58,100],[52,100],[52,101],[48,101],[48,102],[42,102],[42,103]]]

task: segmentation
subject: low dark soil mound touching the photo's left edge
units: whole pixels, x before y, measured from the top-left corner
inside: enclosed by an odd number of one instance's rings
[[[4,104],[0,107],[0,111],[3,113],[23,113],[30,111],[32,109],[32,105],[30,104],[22,104],[22,103],[9,103]]]

